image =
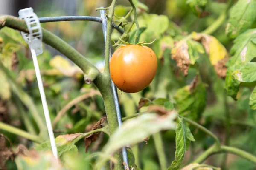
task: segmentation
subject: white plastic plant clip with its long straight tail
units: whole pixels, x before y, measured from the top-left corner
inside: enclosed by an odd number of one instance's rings
[[[26,43],[29,45],[29,48],[31,50],[32,59],[35,66],[36,79],[38,81],[38,88],[39,88],[42,105],[44,109],[44,116],[45,116],[49,138],[51,142],[52,153],[55,156],[55,158],[58,160],[58,151],[55,143],[54,134],[52,131],[52,124],[49,116],[49,110],[48,110],[45,93],[44,93],[44,86],[43,86],[43,82],[42,82],[42,78],[41,78],[41,74],[38,66],[38,60],[36,57],[37,55],[40,55],[43,53],[41,25],[37,15],[33,12],[32,8],[21,9],[19,11],[19,18],[25,20],[29,30],[29,34],[25,32],[21,32],[21,34],[24,40],[26,41]]]

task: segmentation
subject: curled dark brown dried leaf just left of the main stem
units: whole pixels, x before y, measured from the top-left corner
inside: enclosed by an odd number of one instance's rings
[[[95,125],[93,125],[93,127],[90,131],[102,128],[103,127],[102,124],[106,121],[106,119],[107,118],[105,118],[105,117],[101,118]],[[100,134],[100,132],[92,133],[84,139],[86,153],[88,152],[89,146],[98,139],[99,134]]]

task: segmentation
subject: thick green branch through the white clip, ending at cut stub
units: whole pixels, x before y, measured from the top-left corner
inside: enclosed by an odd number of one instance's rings
[[[17,17],[9,15],[0,15],[0,28],[8,26],[13,29],[17,29],[23,32],[28,32],[26,23],[24,20],[20,20]],[[85,74],[85,80],[87,82],[93,82],[97,77],[99,70],[90,63],[84,56],[82,56],[78,51],[72,48],[67,42],[61,40],[61,38],[52,34],[51,32],[42,28],[43,42],[52,46],[56,50],[60,51],[62,54],[67,56],[71,61],[81,68]]]

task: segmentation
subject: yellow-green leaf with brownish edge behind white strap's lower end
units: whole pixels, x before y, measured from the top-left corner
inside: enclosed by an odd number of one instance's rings
[[[75,133],[75,134],[60,135],[57,138],[55,138],[55,143],[58,150],[58,156],[61,156],[63,153],[70,150],[76,151],[77,148],[74,144],[83,137],[84,135],[82,133]],[[36,146],[35,149],[43,150],[43,151],[51,150],[51,143],[50,141],[44,142]]]

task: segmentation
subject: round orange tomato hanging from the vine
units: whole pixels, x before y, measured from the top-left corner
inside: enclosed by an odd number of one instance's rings
[[[156,72],[157,56],[147,46],[122,46],[110,60],[112,81],[117,88],[127,93],[136,93],[148,87]]]

